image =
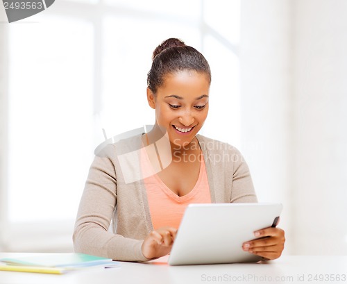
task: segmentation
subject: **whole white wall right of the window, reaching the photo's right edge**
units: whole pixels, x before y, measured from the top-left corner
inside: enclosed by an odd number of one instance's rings
[[[243,0],[242,136],[288,254],[347,253],[347,1]]]

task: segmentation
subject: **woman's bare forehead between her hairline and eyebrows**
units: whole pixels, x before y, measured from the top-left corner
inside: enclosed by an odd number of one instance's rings
[[[209,89],[210,81],[206,74],[184,70],[164,76],[164,82],[158,87],[158,93],[196,96],[208,94]]]

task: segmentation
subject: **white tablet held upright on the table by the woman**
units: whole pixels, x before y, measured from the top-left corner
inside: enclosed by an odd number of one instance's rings
[[[254,231],[276,226],[280,203],[190,204],[169,256],[169,265],[256,262],[261,258],[243,251]]]

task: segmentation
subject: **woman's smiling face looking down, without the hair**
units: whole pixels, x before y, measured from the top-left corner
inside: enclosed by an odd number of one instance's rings
[[[167,131],[171,143],[183,147],[192,142],[208,116],[209,91],[208,77],[194,71],[168,74],[155,96],[147,89],[155,124]]]

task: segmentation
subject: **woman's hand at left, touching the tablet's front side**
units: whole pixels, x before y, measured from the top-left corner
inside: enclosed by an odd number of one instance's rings
[[[177,229],[174,227],[162,227],[151,231],[142,243],[142,254],[145,258],[160,258],[170,251],[176,237]]]

